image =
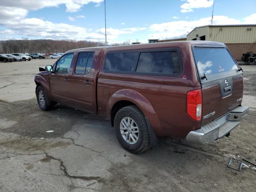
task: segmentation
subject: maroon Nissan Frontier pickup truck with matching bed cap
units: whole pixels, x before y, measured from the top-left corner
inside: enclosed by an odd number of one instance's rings
[[[248,114],[242,68],[218,42],[70,50],[35,75],[42,110],[59,102],[108,118],[120,144],[141,153],[159,137],[208,143]]]

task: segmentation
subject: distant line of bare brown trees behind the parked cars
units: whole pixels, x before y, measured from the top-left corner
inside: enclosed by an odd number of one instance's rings
[[[112,44],[112,46],[123,45]],[[64,53],[71,49],[104,46],[104,42],[76,40],[1,40],[0,53]]]

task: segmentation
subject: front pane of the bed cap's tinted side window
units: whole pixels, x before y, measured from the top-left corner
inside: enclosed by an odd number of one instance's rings
[[[108,53],[104,70],[113,72],[134,72],[139,52]]]

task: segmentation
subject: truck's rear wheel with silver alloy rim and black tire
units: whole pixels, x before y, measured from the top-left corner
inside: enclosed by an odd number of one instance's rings
[[[115,116],[114,128],[121,146],[131,153],[142,153],[150,148],[145,116],[137,106],[121,108]]]

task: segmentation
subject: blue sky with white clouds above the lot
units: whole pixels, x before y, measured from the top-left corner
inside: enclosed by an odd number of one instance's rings
[[[256,24],[256,0],[106,0],[108,43],[186,37],[211,24]],[[0,40],[105,41],[104,0],[0,0]]]

